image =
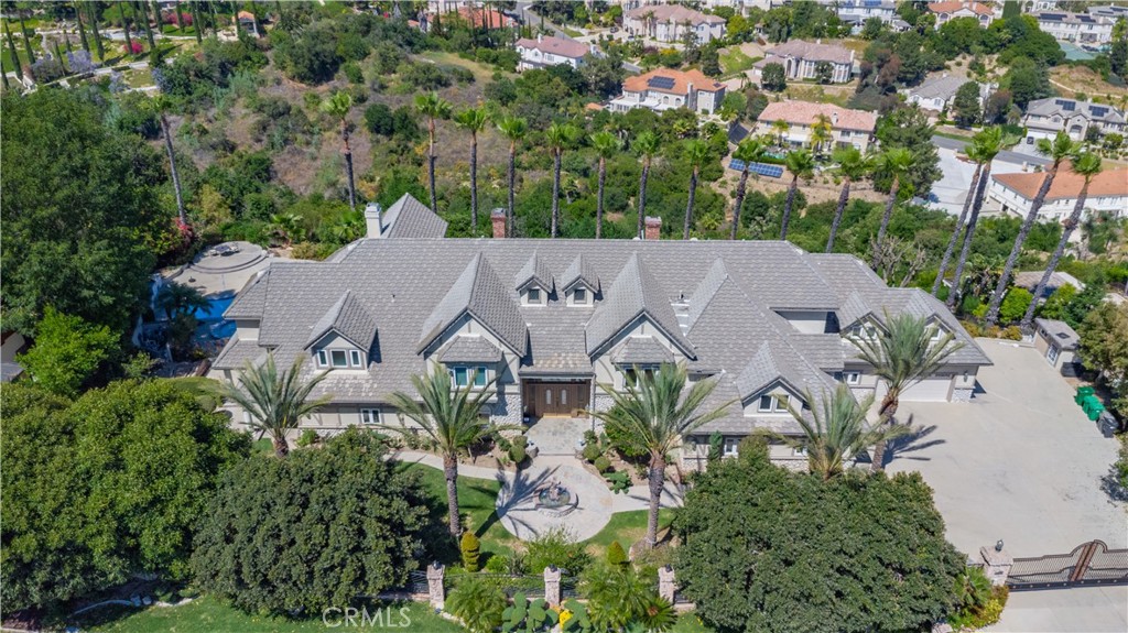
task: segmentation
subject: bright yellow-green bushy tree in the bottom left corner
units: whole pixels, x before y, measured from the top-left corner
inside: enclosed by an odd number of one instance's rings
[[[5,385],[5,613],[52,610],[138,572],[188,576],[196,521],[250,443],[170,381],[72,404]],[[352,519],[351,519],[352,520]]]

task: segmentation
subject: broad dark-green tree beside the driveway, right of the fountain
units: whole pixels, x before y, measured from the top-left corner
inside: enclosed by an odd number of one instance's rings
[[[698,475],[673,529],[681,592],[724,632],[927,630],[963,570],[919,474],[823,481],[763,448]]]

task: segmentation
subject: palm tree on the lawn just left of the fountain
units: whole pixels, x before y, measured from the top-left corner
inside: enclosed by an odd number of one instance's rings
[[[481,439],[499,430],[510,430],[510,426],[482,424],[482,408],[494,394],[497,375],[487,380],[484,386],[474,386],[470,380],[467,386],[456,389],[450,374],[438,363],[431,364],[431,372],[425,375],[412,376],[412,385],[418,393],[418,399],[411,393],[397,391],[389,402],[405,418],[418,426],[442,454],[442,472],[447,479],[447,510],[450,535],[456,538],[462,532],[462,523],[458,514],[458,456]],[[414,435],[416,429],[406,426],[385,426],[386,429],[400,435]]]

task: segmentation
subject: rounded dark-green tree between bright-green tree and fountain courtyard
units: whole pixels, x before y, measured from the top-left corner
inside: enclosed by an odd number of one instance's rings
[[[403,587],[434,532],[434,499],[385,457],[381,439],[353,428],[285,460],[246,460],[201,515],[196,582],[274,614]]]

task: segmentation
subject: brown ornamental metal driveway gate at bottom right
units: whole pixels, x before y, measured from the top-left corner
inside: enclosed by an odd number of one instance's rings
[[[1109,550],[1103,541],[1092,541],[1068,554],[1014,559],[1006,578],[1012,591],[1093,585],[1128,585],[1128,550]]]

